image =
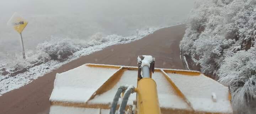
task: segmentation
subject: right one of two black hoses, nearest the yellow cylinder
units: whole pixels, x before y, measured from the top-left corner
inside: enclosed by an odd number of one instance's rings
[[[124,94],[123,101],[121,103],[121,106],[119,108],[119,114],[125,113],[125,108],[128,102],[128,98],[130,97],[130,94],[132,94],[134,88],[128,88]]]

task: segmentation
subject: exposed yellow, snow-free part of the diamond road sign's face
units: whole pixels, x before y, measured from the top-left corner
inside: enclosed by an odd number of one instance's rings
[[[12,23],[14,25],[14,29],[21,34],[24,28],[27,26],[28,22],[21,17],[17,17],[15,22]]]

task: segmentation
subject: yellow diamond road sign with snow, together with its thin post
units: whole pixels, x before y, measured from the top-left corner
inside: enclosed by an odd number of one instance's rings
[[[28,22],[25,19],[23,19],[21,16],[19,16],[16,12],[12,15],[11,19],[7,23],[7,25],[12,25],[14,30],[16,30],[21,36],[21,48],[22,48],[23,59],[26,59],[26,55],[25,55],[25,49],[23,45],[21,32],[24,30],[27,24]]]

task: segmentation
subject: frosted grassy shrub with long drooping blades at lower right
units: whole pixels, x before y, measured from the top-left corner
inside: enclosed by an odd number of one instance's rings
[[[218,80],[230,87],[235,108],[256,103],[256,48],[241,50],[225,58]]]

